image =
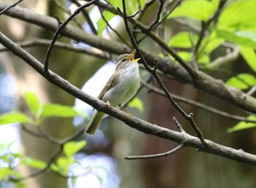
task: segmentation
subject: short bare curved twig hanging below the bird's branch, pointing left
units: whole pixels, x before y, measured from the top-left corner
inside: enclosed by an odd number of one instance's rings
[[[182,149],[183,147],[184,147],[184,144],[179,144],[178,146],[176,146],[176,148],[174,148],[168,152],[164,152],[164,153],[160,153],[160,154],[127,156],[127,157],[124,157],[124,159],[126,159],[126,160],[146,160],[146,159],[153,159],[153,158],[159,158],[159,157],[167,157],[170,154],[174,154],[174,153],[178,152],[178,150]]]

